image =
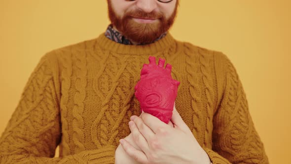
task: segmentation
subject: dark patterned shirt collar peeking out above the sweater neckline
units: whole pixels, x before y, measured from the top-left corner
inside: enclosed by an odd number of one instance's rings
[[[159,38],[157,38],[155,41],[158,41],[160,39],[162,39],[163,37],[165,37],[167,34],[167,32],[163,33]],[[112,26],[111,24],[108,26],[106,32],[105,32],[105,36],[107,38],[109,38],[112,41],[116,41],[118,43],[121,44],[129,44],[129,45],[140,45],[143,43],[139,43],[139,42],[135,42],[135,41],[131,41],[127,38],[125,38],[125,36],[123,36],[114,26]],[[153,41],[154,42],[154,41]]]

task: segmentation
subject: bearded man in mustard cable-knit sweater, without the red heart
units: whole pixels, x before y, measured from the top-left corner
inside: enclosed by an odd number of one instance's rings
[[[178,6],[108,0],[104,34],[45,54],[0,138],[0,162],[267,164],[233,64],[168,32]],[[181,82],[168,124],[141,114],[134,96],[149,56]]]

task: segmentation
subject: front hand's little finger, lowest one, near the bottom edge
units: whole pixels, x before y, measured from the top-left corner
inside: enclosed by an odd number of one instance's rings
[[[136,150],[129,142],[127,142],[125,139],[119,140],[123,150],[126,154],[128,154],[131,158],[136,160],[139,163],[147,164],[148,160],[144,152]]]

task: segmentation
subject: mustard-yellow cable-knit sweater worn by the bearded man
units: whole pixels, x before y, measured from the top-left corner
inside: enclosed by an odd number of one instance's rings
[[[268,163],[229,59],[170,34],[148,45],[102,34],[45,54],[1,135],[0,163],[113,164],[130,116],[140,115],[134,86],[148,56],[173,66],[176,108],[213,164]]]

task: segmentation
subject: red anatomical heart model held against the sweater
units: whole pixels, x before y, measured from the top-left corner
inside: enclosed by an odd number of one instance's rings
[[[142,111],[169,123],[180,82],[172,78],[170,64],[164,68],[165,59],[159,58],[158,65],[153,56],[148,61],[149,64],[144,64],[141,71],[141,80],[135,86],[135,96]]]

